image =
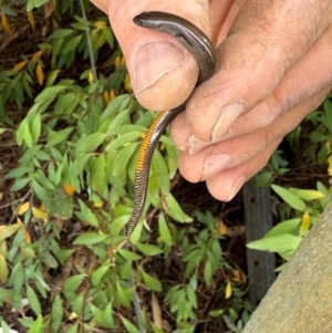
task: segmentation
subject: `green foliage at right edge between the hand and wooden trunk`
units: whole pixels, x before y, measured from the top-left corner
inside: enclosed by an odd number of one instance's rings
[[[317,181],[317,189],[302,189],[294,187],[281,187],[272,185],[273,191],[282,199],[279,204],[279,215],[281,222],[264,235],[262,239],[251,241],[248,248],[277,252],[284,260],[289,260],[298,248],[299,243],[305,237],[311,227],[315,223],[318,217],[326,207],[331,199],[331,176],[332,176],[332,93],[318,110],[307,117],[307,122],[313,125],[310,133],[305,133],[305,127],[299,126],[289,135],[289,142],[294,150],[301,150],[302,158],[307,164],[317,162],[328,169],[326,176],[330,176],[329,183],[324,185]],[[308,126],[308,125],[307,125]],[[301,134],[302,133],[302,134]],[[308,138],[305,149],[301,149],[303,138]],[[290,171],[287,168],[288,162],[282,158],[280,150],[272,156],[269,168],[262,173],[258,181],[266,184],[277,179],[280,175],[287,175]],[[328,167],[326,167],[328,166]],[[281,268],[279,268],[280,270]]]

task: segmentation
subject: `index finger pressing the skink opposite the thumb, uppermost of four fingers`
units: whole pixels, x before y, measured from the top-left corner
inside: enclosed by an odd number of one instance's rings
[[[218,72],[196,89],[187,104],[195,136],[219,141],[239,115],[271,94],[329,27],[329,6],[330,1],[310,6],[295,0],[247,1],[218,50]]]

